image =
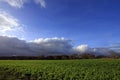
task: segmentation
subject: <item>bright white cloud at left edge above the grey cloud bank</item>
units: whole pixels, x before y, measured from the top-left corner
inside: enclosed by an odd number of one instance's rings
[[[0,10],[0,35],[17,36],[23,33],[22,24],[5,11]]]

